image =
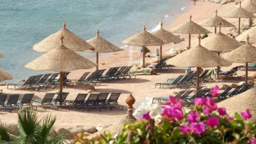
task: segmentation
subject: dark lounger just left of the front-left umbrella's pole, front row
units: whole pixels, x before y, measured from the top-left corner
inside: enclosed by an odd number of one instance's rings
[[[47,107],[53,107],[53,108],[58,109],[52,103],[52,99],[53,99],[54,95],[55,95],[55,93],[46,93],[43,99],[35,99],[32,101],[40,103],[41,107],[44,108],[45,110]]]

